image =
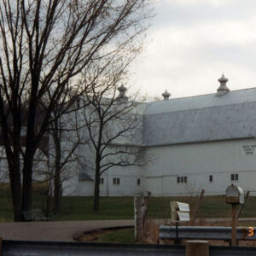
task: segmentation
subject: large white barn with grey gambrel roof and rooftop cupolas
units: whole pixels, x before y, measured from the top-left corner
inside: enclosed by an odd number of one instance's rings
[[[101,195],[224,195],[230,183],[256,195],[256,88],[230,91],[224,76],[218,81],[217,93],[169,99],[165,92],[163,101],[142,103],[143,134],[132,146],[146,148],[151,161],[109,169]],[[93,168],[80,163],[77,172],[66,194],[93,195]]]

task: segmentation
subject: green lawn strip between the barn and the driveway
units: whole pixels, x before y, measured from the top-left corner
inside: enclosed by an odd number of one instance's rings
[[[151,198],[149,218],[170,218],[171,201],[188,202],[195,207],[197,197]],[[34,188],[32,208],[44,209],[45,196]],[[100,211],[94,212],[93,197],[67,196],[62,199],[61,212],[55,220],[99,220],[134,218],[132,197],[102,197]],[[230,218],[231,206],[226,204],[225,196],[205,196],[201,203],[198,218]],[[241,217],[256,217],[256,197],[249,197]],[[0,221],[13,221],[13,207],[9,189],[0,184]]]

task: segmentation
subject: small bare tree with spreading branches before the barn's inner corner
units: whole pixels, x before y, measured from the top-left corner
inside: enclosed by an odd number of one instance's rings
[[[113,69],[111,69],[113,71]],[[146,164],[142,139],[142,103],[135,98],[128,101],[125,86],[117,87],[124,80],[124,70],[105,74],[102,84],[97,81],[90,93],[85,93],[84,120],[90,137],[90,150],[95,155],[94,211],[99,210],[100,177],[113,166],[143,166]],[[117,96],[119,90],[119,96]]]

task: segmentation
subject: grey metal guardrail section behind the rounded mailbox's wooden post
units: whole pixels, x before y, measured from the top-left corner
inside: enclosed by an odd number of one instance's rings
[[[211,239],[211,240],[230,240],[231,227],[176,227],[160,225],[160,239]],[[238,227],[237,240],[256,240],[256,227]]]

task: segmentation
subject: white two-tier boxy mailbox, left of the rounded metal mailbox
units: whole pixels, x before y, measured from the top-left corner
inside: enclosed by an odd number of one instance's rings
[[[189,221],[189,204],[171,201],[172,221]]]

